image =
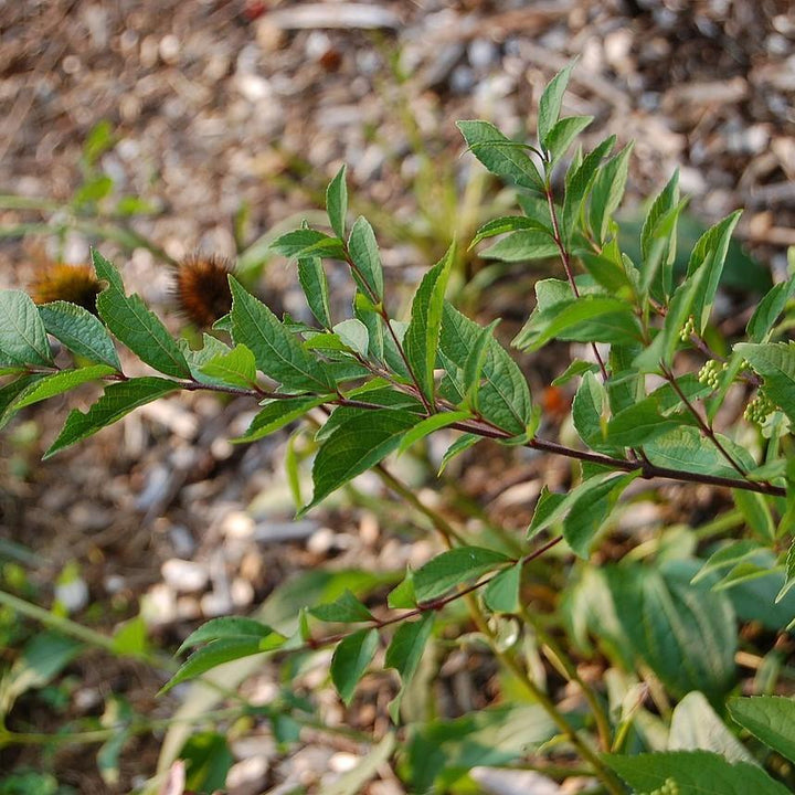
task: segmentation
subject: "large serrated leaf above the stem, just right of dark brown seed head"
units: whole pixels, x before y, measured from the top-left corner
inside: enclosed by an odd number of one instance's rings
[[[333,392],[335,383],[317,361],[262,301],[230,276],[232,338],[248,348],[257,368],[288,389]]]

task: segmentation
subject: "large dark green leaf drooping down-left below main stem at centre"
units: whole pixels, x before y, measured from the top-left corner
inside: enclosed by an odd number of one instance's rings
[[[341,413],[340,413],[341,412]],[[402,409],[343,411],[312,466],[315,494],[304,509],[315,507],[332,491],[361,475],[398,449],[401,437],[416,424],[414,413]]]

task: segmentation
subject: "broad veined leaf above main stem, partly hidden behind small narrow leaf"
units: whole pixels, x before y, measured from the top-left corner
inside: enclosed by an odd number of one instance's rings
[[[451,304],[445,303],[439,336],[439,351],[448,360],[449,369],[460,374],[457,379],[460,395],[466,393],[464,370],[469,352],[477,344],[483,332],[469,318],[462,315]],[[448,364],[445,364],[448,369]],[[478,389],[480,413],[498,427],[511,434],[522,434],[532,421],[532,400],[530,389],[519,365],[510,358],[502,346],[491,338],[488,353],[481,371],[483,383]]]

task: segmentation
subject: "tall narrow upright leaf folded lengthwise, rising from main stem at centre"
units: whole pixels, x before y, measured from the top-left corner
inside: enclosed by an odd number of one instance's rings
[[[423,277],[412,301],[411,322],[404,339],[414,378],[431,405],[434,403],[434,369],[442,331],[444,293],[454,258],[453,245]]]

